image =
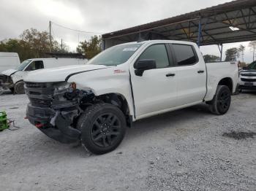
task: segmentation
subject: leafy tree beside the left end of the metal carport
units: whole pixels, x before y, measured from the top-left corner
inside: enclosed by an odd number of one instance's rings
[[[91,36],[91,39],[89,39],[88,42],[86,40],[80,42],[77,47],[77,52],[85,54],[86,58],[91,59],[101,52],[100,43],[101,38],[99,36]]]

